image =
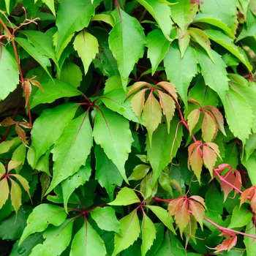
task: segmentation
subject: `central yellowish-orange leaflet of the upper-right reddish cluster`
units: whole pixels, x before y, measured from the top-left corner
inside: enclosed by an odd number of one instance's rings
[[[207,113],[204,113],[202,124],[202,138],[204,141],[209,142],[214,139],[217,134],[217,127],[214,119]]]

